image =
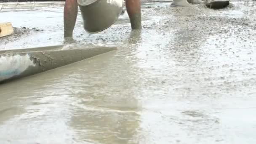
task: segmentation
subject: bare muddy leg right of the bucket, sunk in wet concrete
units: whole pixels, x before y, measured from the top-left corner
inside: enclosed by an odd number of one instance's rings
[[[125,6],[130,18],[132,29],[141,29],[141,1],[125,0]]]

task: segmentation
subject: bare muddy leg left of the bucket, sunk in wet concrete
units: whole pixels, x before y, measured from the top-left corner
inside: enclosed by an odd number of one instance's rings
[[[77,0],[66,0],[64,6],[64,37],[73,37],[77,19]]]

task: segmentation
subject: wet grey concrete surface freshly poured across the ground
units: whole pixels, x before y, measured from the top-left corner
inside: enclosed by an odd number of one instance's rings
[[[115,45],[117,51],[0,85],[1,144],[256,143],[256,6],[144,3],[141,31],[127,13],[75,43],[63,40],[63,8],[5,11],[14,27],[38,27],[0,49]]]

